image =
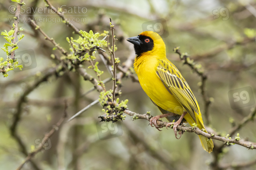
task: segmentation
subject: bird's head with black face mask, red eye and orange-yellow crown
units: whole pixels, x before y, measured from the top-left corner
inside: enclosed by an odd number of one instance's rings
[[[153,31],[144,31],[136,37],[130,37],[127,39],[134,45],[134,51],[136,57],[141,55],[158,55],[166,56],[166,47],[162,38]]]

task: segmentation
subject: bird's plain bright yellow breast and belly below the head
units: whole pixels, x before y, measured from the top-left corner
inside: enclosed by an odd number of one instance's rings
[[[135,59],[136,71],[142,89],[161,108],[176,114],[183,114],[183,107],[163,85],[156,74],[159,65],[156,56],[142,55]]]

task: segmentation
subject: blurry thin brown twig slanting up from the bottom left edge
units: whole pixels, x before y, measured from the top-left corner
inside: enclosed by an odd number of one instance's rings
[[[48,133],[46,133],[45,135],[44,135],[44,138],[45,137],[51,137],[53,134],[54,134],[54,132],[56,132],[57,130],[59,130],[59,126],[61,125],[61,123],[65,120],[65,118],[67,117],[67,102],[65,102],[65,108],[64,108],[64,112],[63,112],[63,115],[62,115],[62,117],[60,118],[60,120],[53,126],[53,128],[48,132]],[[29,154],[28,154],[28,156],[26,157],[26,159],[23,161],[23,163],[17,168],[17,170],[20,170],[20,169],[22,169],[22,167],[32,158],[32,157],[34,157],[38,152],[40,152],[42,149],[44,149],[44,145],[45,145],[45,140],[44,141],[42,141],[42,143],[41,143],[41,147],[40,148],[38,148],[38,149],[36,149],[35,151],[33,151],[33,152],[30,152]]]

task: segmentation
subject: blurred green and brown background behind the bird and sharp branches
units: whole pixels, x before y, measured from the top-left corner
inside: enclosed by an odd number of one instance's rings
[[[13,23],[13,5],[16,2],[0,1],[1,32],[10,31]],[[126,115],[123,122],[100,122],[102,106],[90,107],[68,123],[62,124],[50,138],[45,138],[53,125],[59,121],[67,101],[68,118],[99,98],[99,92],[90,90],[94,85],[85,81],[77,72],[66,71],[50,76],[47,81],[25,94],[47,71],[58,64],[51,54],[63,54],[54,49],[31,26],[33,18],[40,28],[63,49],[69,51],[66,37],[78,38],[71,27],[45,7],[39,0],[24,1],[18,27],[25,29],[25,37],[15,51],[23,70],[10,71],[9,76],[0,76],[0,169],[16,169],[31,151],[44,149],[35,154],[22,169],[246,169],[256,168],[255,150],[239,145],[223,146],[213,140],[213,153],[202,149],[198,136],[185,133],[177,140],[173,130],[163,128],[161,132],[148,125],[147,120],[132,121]],[[62,8],[63,14],[78,30],[94,33],[110,31],[110,20],[115,27],[116,57],[120,64],[135,58],[133,46],[126,41],[142,31],[159,33],[165,41],[168,59],[180,70],[199,103],[204,124],[219,136],[225,137],[248,116],[255,107],[256,91],[256,1],[231,0],[94,0],[94,1],[50,1]],[[32,10],[33,9],[33,10]],[[42,10],[41,10],[42,9]],[[111,33],[109,34],[111,35]],[[103,38],[103,37],[102,37]],[[99,38],[101,39],[101,38]],[[111,37],[109,43],[112,44]],[[1,47],[6,40],[1,36]],[[205,104],[199,88],[201,78],[187,65],[183,65],[173,48],[180,47],[196,64],[200,64],[208,79],[205,81],[206,96],[210,99],[205,116]],[[110,55],[107,52],[108,55]],[[6,58],[1,50],[0,56]],[[111,77],[98,53],[96,61],[104,71],[102,79]],[[131,63],[132,64],[132,63]],[[95,73],[84,68],[88,74]],[[133,67],[130,65],[133,72]],[[112,81],[106,89],[112,88]],[[122,79],[120,100],[128,99],[132,112],[153,116],[160,111],[147,97],[138,82]],[[17,134],[25,145],[20,147],[11,131],[13,115],[20,112]],[[67,120],[67,119],[66,119]],[[164,120],[166,121],[166,120]],[[189,126],[189,125],[187,125]],[[241,139],[256,142],[256,124],[252,118],[237,133]],[[221,149],[220,149],[221,148]],[[245,164],[237,167],[236,164]]]

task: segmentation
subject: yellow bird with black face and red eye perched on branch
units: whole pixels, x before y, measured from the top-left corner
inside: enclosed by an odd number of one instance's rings
[[[151,118],[151,126],[154,124],[158,129],[156,121],[167,117],[171,122],[166,128],[173,124],[175,137],[176,128],[182,122],[188,122],[191,126],[196,123],[198,128],[205,129],[197,100],[180,71],[166,58],[166,46],[162,38],[155,32],[144,31],[127,41],[134,45],[134,70],[141,87],[163,114]],[[173,119],[176,122],[172,122]],[[199,138],[203,149],[212,152],[212,140],[202,135]]]

